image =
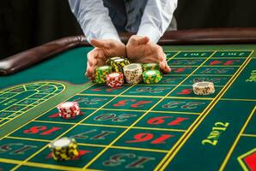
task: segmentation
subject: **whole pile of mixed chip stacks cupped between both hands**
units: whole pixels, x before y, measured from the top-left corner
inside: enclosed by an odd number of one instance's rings
[[[95,82],[107,83],[110,87],[121,86],[125,83],[138,84],[143,80],[146,84],[154,84],[162,80],[157,63],[131,63],[124,57],[111,57],[106,65],[95,69]]]

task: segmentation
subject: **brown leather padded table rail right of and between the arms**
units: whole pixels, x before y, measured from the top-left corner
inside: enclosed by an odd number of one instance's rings
[[[121,33],[120,38],[127,43],[131,33]],[[158,44],[254,44],[256,27],[252,28],[206,28],[165,32]]]

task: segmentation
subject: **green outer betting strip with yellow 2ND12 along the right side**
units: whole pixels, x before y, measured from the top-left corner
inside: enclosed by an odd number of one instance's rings
[[[256,71],[255,66],[255,57],[248,56],[228,87],[215,99],[216,103],[200,115],[197,125],[172,151],[162,169],[253,170],[256,167],[256,91],[253,89],[256,84],[250,77]]]

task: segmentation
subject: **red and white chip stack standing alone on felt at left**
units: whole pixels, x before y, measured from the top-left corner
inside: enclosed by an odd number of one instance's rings
[[[77,102],[64,102],[58,105],[58,114],[63,118],[72,118],[80,114],[80,108]]]

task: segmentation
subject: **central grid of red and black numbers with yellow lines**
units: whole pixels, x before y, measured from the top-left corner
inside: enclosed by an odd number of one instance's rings
[[[164,156],[186,136],[251,51],[241,52],[241,58],[231,52],[222,58],[222,53],[168,52],[173,71],[157,85],[93,85],[70,98],[82,109],[76,119],[63,120],[54,108],[4,137],[1,145],[7,149],[0,162],[15,169],[32,165],[59,169],[161,167]],[[195,96],[192,83],[200,80],[213,81],[216,93]],[[64,136],[77,140],[80,157],[55,162],[46,145]],[[13,144],[10,150],[8,145]]]

